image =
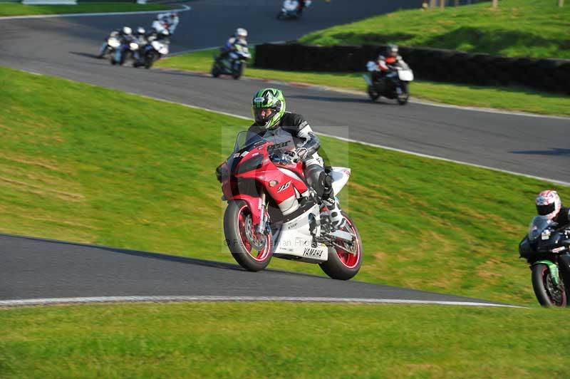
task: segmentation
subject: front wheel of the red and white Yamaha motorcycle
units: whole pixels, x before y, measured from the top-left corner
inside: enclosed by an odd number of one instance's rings
[[[234,259],[248,271],[260,271],[271,261],[271,232],[258,234],[252,212],[243,200],[229,202],[224,214],[224,235]]]

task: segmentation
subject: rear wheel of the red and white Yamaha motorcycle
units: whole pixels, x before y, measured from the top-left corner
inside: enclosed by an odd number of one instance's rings
[[[328,260],[319,266],[321,266],[324,273],[332,279],[348,280],[358,274],[358,270],[361,269],[363,251],[362,239],[351,217],[343,211],[341,211],[341,214],[346,219],[346,225],[343,227],[343,231],[356,236],[356,240],[353,242],[354,246],[356,246],[356,251],[349,253],[345,249],[342,249],[338,245],[343,246],[345,242],[337,240],[333,246],[328,247]]]

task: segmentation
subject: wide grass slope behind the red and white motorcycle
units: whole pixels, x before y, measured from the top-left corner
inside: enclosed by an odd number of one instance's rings
[[[0,82],[1,232],[232,261],[214,168],[246,120],[8,68]],[[517,246],[556,185],[321,141],[353,169],[341,200],[363,238],[358,280],[536,303]]]

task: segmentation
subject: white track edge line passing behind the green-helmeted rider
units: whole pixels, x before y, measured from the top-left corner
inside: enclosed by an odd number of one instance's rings
[[[215,109],[211,109],[211,108],[204,108],[204,107],[199,107],[197,105],[188,105],[185,103],[178,103],[177,101],[170,101],[170,100],[164,100],[161,98],[153,98],[152,96],[147,96],[147,95],[140,95],[139,93],[133,93],[133,92],[129,92],[133,95],[138,95],[138,96],[142,96],[143,98],[148,98],[148,99],[152,99],[152,100],[158,100],[158,101],[164,101],[165,103],[171,103],[171,104],[177,104],[177,105],[182,105],[184,107],[187,108],[193,108],[193,109],[199,109],[199,110],[207,110],[208,112],[214,112],[214,113],[219,113],[221,115],[227,115],[227,116],[231,116],[231,117],[235,117],[235,118],[241,118],[242,120],[248,120],[248,121],[253,121],[252,118],[249,117],[244,117],[242,115],[236,115],[234,113],[227,113],[224,112],[222,110],[215,110]],[[477,165],[475,163],[469,163],[469,162],[462,162],[460,160],[452,160],[452,159],[448,159],[448,158],[443,158],[443,157],[437,157],[435,155],[428,155],[428,154],[423,154],[421,152],[413,152],[410,150],[403,150],[403,149],[398,149],[396,147],[389,147],[389,146],[385,146],[385,145],[378,145],[375,143],[370,143],[370,142],[363,142],[363,141],[359,141],[359,140],[352,140],[351,138],[344,138],[344,137],[338,137],[337,135],[330,135],[330,134],[326,134],[326,133],[321,133],[318,132],[319,135],[323,135],[325,137],[331,137],[331,138],[336,138],[337,140],[341,140],[341,141],[346,141],[346,142],[353,142],[353,143],[359,143],[361,145],[366,145],[366,146],[371,146],[371,147],[378,147],[380,149],[385,149],[385,150],[390,150],[390,151],[395,151],[395,152],[403,152],[404,154],[410,154],[410,155],[415,155],[416,157],[424,157],[424,158],[430,158],[433,160],[443,160],[445,162],[452,162],[452,163],[457,163],[458,165],[466,165],[466,166],[471,166],[471,167],[477,167],[477,168],[482,168],[482,169],[486,169],[486,170],[492,170],[492,171],[497,171],[497,172],[504,172],[505,174],[511,174],[511,175],[517,175],[519,177],[528,177],[531,179],[536,179],[536,180],[542,180],[544,182],[551,182],[554,183],[556,185],[563,185],[565,187],[570,187],[570,182],[562,182],[561,180],[554,180],[554,179],[549,179],[547,177],[537,177],[534,175],[527,175],[527,174],[522,174],[521,172],[514,172],[514,171],[508,171],[508,170],[502,170],[499,168],[495,168],[495,167],[489,167],[489,166],[484,166],[484,165]]]

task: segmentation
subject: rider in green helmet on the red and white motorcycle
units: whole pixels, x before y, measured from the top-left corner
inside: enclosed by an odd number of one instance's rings
[[[315,190],[317,200],[326,205],[333,229],[343,227],[346,220],[333,193],[332,177],[326,174],[323,158],[317,152],[321,143],[309,123],[303,116],[285,111],[285,97],[276,88],[263,88],[254,94],[252,114],[255,122],[249,127],[248,135],[271,137],[285,133],[292,137],[296,149],[288,152],[291,160],[304,163],[306,181]]]

